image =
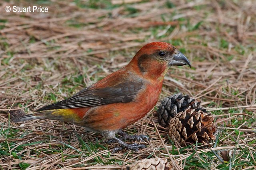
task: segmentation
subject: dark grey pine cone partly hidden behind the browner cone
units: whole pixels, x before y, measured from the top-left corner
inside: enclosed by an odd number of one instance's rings
[[[180,111],[185,111],[189,106],[196,111],[206,109],[202,108],[200,101],[197,101],[190,96],[184,96],[182,93],[175,94],[164,99],[158,107],[157,117],[162,127],[168,127],[170,119],[175,117]]]

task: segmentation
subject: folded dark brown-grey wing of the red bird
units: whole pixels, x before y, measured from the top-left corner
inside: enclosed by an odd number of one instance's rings
[[[42,107],[37,111],[92,107],[118,102],[127,103],[134,100],[136,94],[138,94],[139,90],[142,88],[142,82],[123,82],[106,88],[88,87],[69,99]]]

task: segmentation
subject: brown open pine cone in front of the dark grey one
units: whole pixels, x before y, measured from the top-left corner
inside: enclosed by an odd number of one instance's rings
[[[180,145],[186,146],[186,142],[196,141],[207,144],[210,140],[215,140],[214,133],[217,127],[213,121],[214,118],[209,113],[196,111],[189,106],[170,120],[166,131],[171,139],[176,139]]]

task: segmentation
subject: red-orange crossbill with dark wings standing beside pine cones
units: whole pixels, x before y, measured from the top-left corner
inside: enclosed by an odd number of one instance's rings
[[[120,147],[138,151],[144,145],[128,144],[123,139],[145,139],[146,135],[128,135],[122,129],[144,117],[158,102],[164,76],[171,66],[188,65],[190,61],[174,45],[152,42],[144,45],[123,68],[109,74],[72,97],[44,106],[31,115],[16,117],[13,122],[52,119],[83,126],[100,132]]]

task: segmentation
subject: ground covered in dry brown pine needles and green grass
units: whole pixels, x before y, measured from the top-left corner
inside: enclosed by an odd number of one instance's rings
[[[120,169],[154,156],[169,157],[178,169],[256,168],[253,0],[40,2],[0,2],[2,169]],[[49,12],[7,13],[7,5],[41,5]],[[13,109],[32,113],[118,70],[152,41],[172,43],[192,62],[192,69],[170,69],[161,99],[183,92],[202,100],[220,127],[213,147],[177,148],[153,111],[124,129],[150,136],[148,147],[117,154],[109,151],[116,144],[82,127],[9,121]],[[222,161],[221,150],[230,161]]]

